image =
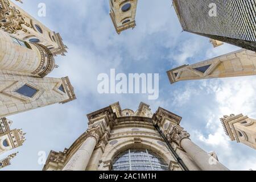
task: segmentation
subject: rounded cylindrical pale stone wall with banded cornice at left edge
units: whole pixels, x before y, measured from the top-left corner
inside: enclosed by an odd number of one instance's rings
[[[42,44],[28,43],[0,31],[0,69],[44,77],[52,72],[55,60]]]

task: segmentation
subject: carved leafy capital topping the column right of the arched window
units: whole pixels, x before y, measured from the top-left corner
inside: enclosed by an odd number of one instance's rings
[[[168,131],[168,133],[166,134],[168,141],[171,142],[175,142],[177,144],[179,144],[180,146],[180,142],[181,140],[183,140],[184,138],[188,138],[190,137],[189,133],[187,133],[187,131],[183,130],[180,127],[174,126],[172,125],[170,130]]]

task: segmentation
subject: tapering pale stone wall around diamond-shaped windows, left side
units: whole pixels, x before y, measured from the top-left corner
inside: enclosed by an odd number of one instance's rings
[[[24,85],[35,89],[32,97],[17,92]],[[63,90],[60,90],[61,87]],[[17,75],[16,72],[0,70],[0,117],[56,103],[65,104],[75,99],[68,77],[38,78],[24,73]]]

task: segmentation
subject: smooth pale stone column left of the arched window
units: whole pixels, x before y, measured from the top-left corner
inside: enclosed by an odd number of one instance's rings
[[[76,151],[65,165],[63,171],[85,171],[99,138],[99,135],[95,131],[89,133],[79,150]]]

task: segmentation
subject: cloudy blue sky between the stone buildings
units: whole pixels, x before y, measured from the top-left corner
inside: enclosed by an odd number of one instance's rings
[[[46,3],[46,17],[38,16],[38,4]],[[244,114],[256,118],[255,76],[181,81],[171,85],[166,72],[240,48],[230,44],[213,48],[208,38],[183,32],[170,0],[139,0],[134,30],[117,35],[106,0],[23,0],[22,9],[55,32],[68,46],[67,56],[55,57],[59,68],[48,77],[69,76],[77,100],[15,114],[12,129],[23,129],[26,142],[8,151],[19,151],[3,170],[42,170],[39,152],[63,151],[86,131],[86,114],[119,101],[122,109],[137,110],[139,103],[158,107],[183,117],[181,126],[205,151],[215,151],[232,170],[256,170],[256,151],[231,142],[220,118]],[[159,98],[147,94],[100,94],[100,73],[159,73]]]

